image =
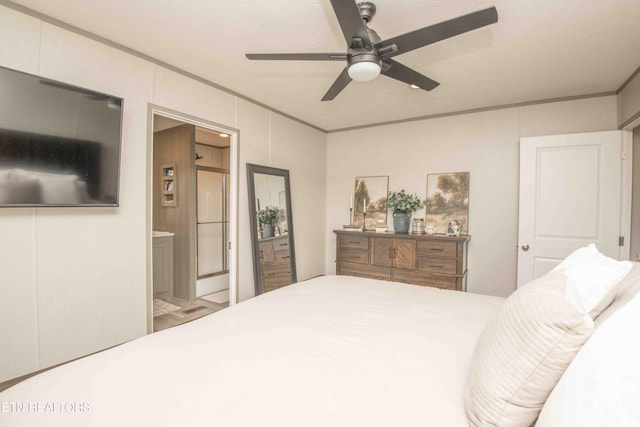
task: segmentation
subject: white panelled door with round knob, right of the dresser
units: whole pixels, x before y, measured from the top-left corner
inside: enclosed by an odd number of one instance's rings
[[[589,243],[618,258],[623,133],[520,140],[518,287]]]

